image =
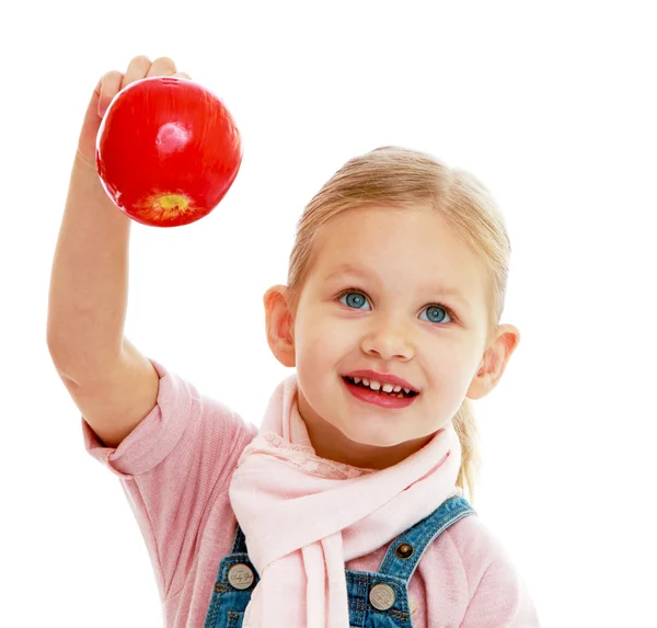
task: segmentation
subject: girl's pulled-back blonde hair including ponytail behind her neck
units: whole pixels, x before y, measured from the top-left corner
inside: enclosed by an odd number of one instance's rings
[[[510,241],[504,217],[484,185],[470,172],[406,148],[385,146],[350,159],[306,207],[289,260],[288,287],[292,307],[304,281],[314,239],[331,218],[361,206],[410,207],[428,203],[477,254],[487,286],[486,345],[494,338],[504,309]],[[479,433],[472,402],[464,398],[452,418],[461,443],[457,484],[472,501],[480,466]]]

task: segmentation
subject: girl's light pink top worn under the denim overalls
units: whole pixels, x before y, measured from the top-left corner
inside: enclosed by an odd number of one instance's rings
[[[150,362],[160,375],[155,408],[117,448],[104,447],[82,418],[84,446],[120,478],[153,566],[165,627],[203,628],[237,526],[231,475],[257,427]],[[385,550],[346,568],[377,571]],[[539,627],[525,583],[477,516],[462,518],[429,546],[408,589],[416,628]]]

